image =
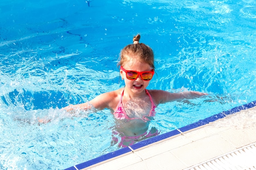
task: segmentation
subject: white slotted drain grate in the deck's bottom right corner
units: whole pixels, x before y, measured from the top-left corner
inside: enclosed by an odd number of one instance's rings
[[[256,143],[185,170],[256,170]]]

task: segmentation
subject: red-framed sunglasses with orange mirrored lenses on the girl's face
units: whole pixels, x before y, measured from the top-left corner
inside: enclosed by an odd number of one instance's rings
[[[152,69],[151,71],[142,72],[126,70],[122,66],[120,66],[120,69],[126,73],[126,78],[131,80],[137,79],[140,75],[143,80],[149,81],[150,79],[152,79],[155,73],[154,69]]]

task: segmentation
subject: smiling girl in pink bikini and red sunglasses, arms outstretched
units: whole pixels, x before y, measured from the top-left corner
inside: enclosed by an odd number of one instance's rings
[[[150,119],[155,115],[155,108],[159,104],[207,95],[195,91],[170,93],[147,90],[146,87],[155,73],[154,54],[149,46],[139,43],[139,39],[140,35],[136,35],[133,44],[121,50],[118,66],[125,82],[124,88],[103,93],[90,102],[65,107],[67,111],[109,108],[117,121],[113,133],[121,137],[120,147],[130,146],[136,141],[159,134],[155,128],[148,130]],[[118,139],[113,137],[113,141],[117,143]]]

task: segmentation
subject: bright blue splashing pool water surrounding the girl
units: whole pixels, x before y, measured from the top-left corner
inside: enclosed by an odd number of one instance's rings
[[[117,150],[109,110],[60,108],[123,87],[119,53],[137,33],[155,53],[148,89],[210,94],[160,105],[150,126],[161,133],[256,100],[255,30],[254,0],[2,0],[0,169],[65,169]]]

